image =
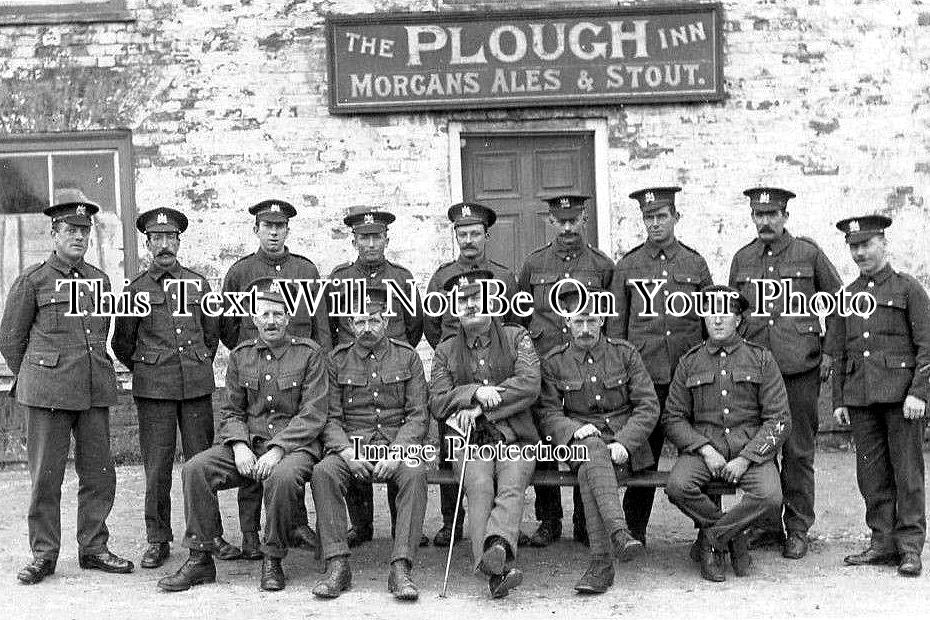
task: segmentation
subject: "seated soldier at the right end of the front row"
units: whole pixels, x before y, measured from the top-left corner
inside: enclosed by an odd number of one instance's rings
[[[729,550],[737,576],[747,575],[746,529],[781,505],[775,455],[791,432],[791,416],[774,356],[737,333],[749,300],[727,286],[704,292],[708,339],[679,360],[662,414],[681,451],[666,492],[701,528],[701,576],[724,581],[723,554]],[[704,492],[714,478],[743,490],[727,512]]]

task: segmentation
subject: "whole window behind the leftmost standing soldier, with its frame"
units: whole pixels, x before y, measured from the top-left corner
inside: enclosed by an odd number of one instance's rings
[[[13,280],[52,251],[50,204],[100,205],[85,259],[113,289],[137,270],[136,208],[128,130],[0,138],[0,307]]]

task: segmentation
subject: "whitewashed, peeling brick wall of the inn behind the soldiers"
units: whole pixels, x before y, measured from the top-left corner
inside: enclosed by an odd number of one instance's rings
[[[0,132],[130,128],[138,208],[185,210],[182,259],[210,278],[255,245],[244,208],[280,196],[301,211],[292,249],[324,273],[351,258],[346,207],[391,209],[389,257],[425,283],[453,256],[444,216],[449,121],[583,116],[608,123],[612,235],[602,245],[615,255],[642,236],[626,195],[677,183],[679,235],[725,279],[734,251],[753,236],[741,191],[771,183],[798,193],[789,229],[814,237],[844,278],[853,264],[833,222],[876,210],[895,218],[894,265],[930,285],[930,10],[918,4],[725,2],[720,104],[360,117],[327,112],[324,12],[512,3],[128,5],[130,23],[0,26]]]

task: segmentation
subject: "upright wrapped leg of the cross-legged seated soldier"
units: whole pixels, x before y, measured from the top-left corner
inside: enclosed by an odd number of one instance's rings
[[[573,463],[578,488],[587,517],[588,539],[592,555],[611,553],[611,536],[626,528],[620,502],[617,472],[610,459],[610,449],[600,437],[585,437],[575,442],[588,448],[588,460]],[[629,490],[626,491],[629,493]]]

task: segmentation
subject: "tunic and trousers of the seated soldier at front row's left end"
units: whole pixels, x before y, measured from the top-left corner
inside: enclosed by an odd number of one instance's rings
[[[213,550],[222,532],[216,492],[250,484],[236,469],[232,446],[247,444],[261,457],[273,447],[284,457],[264,481],[265,542],[262,552],[283,557],[294,526],[294,506],[322,457],[321,436],[329,398],[326,352],[309,338],[287,337],[271,346],[246,340],[230,353],[226,397],[220,409],[220,443],[184,465],[184,546]]]

